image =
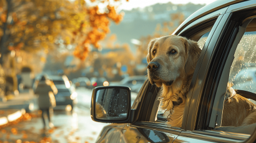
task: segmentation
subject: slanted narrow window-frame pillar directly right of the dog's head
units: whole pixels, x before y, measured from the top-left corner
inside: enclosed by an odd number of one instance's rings
[[[212,19],[212,17],[210,17]],[[187,95],[187,100],[185,104],[185,109],[184,109],[184,116],[183,116],[183,121],[182,121],[182,129],[184,130],[189,130],[192,131],[191,126],[194,124],[196,116],[197,116],[197,108],[200,104],[198,101],[200,91],[202,86],[204,85],[204,77],[206,76],[207,70],[209,70],[209,63],[208,61],[211,58],[211,53],[212,53],[212,43],[216,42],[217,39],[214,39],[214,35],[217,28],[220,26],[223,26],[224,24],[220,24],[223,21],[223,18],[226,19],[227,17],[224,17],[224,14],[220,14],[217,17],[217,20],[212,27],[212,30],[210,31],[209,37],[207,38],[204,48],[202,49],[202,52],[200,53],[199,60],[197,62],[197,66],[195,67],[194,75],[192,77],[192,81],[190,83],[190,88],[189,92]],[[217,33],[220,33],[221,30],[218,30]],[[184,34],[182,34],[184,35]],[[207,65],[207,66],[205,66]],[[201,73],[201,74],[199,74]],[[197,100],[195,100],[197,99]],[[192,101],[192,103],[191,103]],[[198,101],[198,102],[195,102]],[[192,111],[191,111],[192,110]]]

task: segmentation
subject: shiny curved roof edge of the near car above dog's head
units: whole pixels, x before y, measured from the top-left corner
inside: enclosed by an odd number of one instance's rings
[[[218,0],[214,1],[201,9],[195,11],[193,14],[191,14],[187,19],[185,19],[182,24],[179,25],[179,27],[174,31],[173,35],[179,34],[179,32],[184,29],[187,25],[194,22],[195,20],[199,19],[200,17],[203,17],[207,14],[210,14],[211,12],[217,11],[219,9],[222,9],[224,7],[230,6],[232,4],[236,4],[242,1],[246,0]]]

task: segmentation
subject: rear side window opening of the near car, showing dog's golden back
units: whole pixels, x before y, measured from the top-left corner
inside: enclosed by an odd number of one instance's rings
[[[244,133],[249,136],[256,127],[255,121],[252,121],[256,109],[256,21],[253,19],[247,22],[241,26],[248,24],[246,29],[239,27],[229,58],[225,60],[209,126],[215,130]]]

